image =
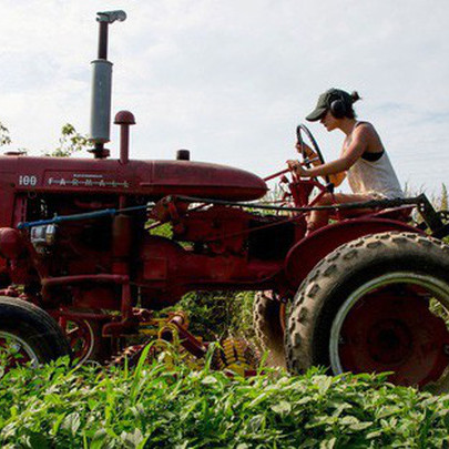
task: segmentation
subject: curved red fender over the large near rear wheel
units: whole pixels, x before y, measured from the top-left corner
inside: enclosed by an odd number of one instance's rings
[[[355,218],[327,225],[300,239],[288,252],[284,264],[288,284],[296,292],[312,268],[338,246],[364,235],[388,231],[422,233],[406,223],[387,218]]]

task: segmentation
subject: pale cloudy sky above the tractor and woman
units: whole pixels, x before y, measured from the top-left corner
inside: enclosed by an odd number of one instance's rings
[[[132,159],[221,163],[261,176],[295,157],[295,129],[329,88],[358,91],[402,185],[449,181],[447,0],[0,0],[0,122],[40,154],[89,133],[98,11],[110,25],[112,116],[135,115]],[[327,161],[344,135],[308,124]],[[118,157],[112,125],[112,157]],[[347,185],[343,191],[347,191]]]

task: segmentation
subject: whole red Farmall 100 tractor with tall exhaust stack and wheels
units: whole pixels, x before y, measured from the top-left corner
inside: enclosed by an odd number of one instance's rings
[[[249,290],[273,365],[391,371],[399,385],[448,389],[448,213],[425,195],[317,206],[334,192],[329,178],[284,170],[263,180],[193,162],[185,150],[171,161],[130,160],[129,111],[115,115],[120,159],[109,157],[108,30],[124,19],[98,17],[93,159],[0,157],[3,368],[69,354],[120,364],[161,341],[201,359],[208,344],[188,331],[183,313],[164,309],[188,292]],[[315,155],[303,163],[324,163],[299,125],[299,143],[304,134]],[[283,195],[267,204],[272,180]],[[306,235],[314,208],[330,210],[333,221]],[[251,350],[235,340],[222,341],[214,363],[254,370]]]

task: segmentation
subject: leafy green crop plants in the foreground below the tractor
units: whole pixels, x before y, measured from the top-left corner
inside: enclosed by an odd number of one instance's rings
[[[173,356],[172,356],[173,357]],[[254,378],[191,370],[178,359],[133,370],[60,360],[0,379],[2,448],[441,448],[449,395],[384,376]]]

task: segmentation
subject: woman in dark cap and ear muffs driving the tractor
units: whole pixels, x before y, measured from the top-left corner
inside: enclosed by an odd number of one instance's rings
[[[375,127],[368,122],[356,120],[353,104],[359,99],[357,92],[349,94],[339,89],[329,89],[319,95],[315,110],[306,116],[310,122],[319,120],[327,131],[338,129],[345,133],[337,160],[309,169],[302,166],[298,161],[287,161],[289,169],[298,176],[334,175],[331,182],[335,185],[343,182],[345,176],[341,174],[346,172],[353,193],[327,193],[317,205],[404,197],[398,177]],[[315,156],[314,151],[303,142],[297,143],[296,147],[308,157]],[[324,210],[313,211],[307,221],[307,232],[326,225],[329,213]]]

